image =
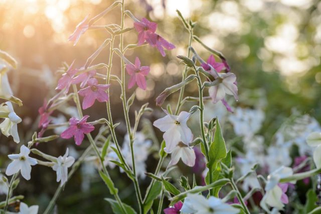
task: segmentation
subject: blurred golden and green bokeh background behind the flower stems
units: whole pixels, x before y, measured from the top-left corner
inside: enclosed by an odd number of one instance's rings
[[[308,114],[321,122],[321,3],[317,0],[126,0],[126,9],[139,19],[146,17],[158,24],[157,33],[176,45],[176,49],[167,51],[163,58],[156,49],[141,47],[128,51],[126,57],[134,61],[138,56],[142,65],[150,66],[147,90],[133,87],[137,101],[131,111],[145,102],[155,109],[153,115],[146,116],[150,121],[163,114],[155,107],[155,97],[166,87],[181,80],[184,66],[176,55],[186,55],[188,33],[177,17],[179,9],[185,18],[196,22],[195,35],[209,47],[221,51],[231,66],[231,72],[237,75],[240,101],[228,100],[236,107],[265,112],[265,120],[258,131],[266,140],[271,141],[286,118],[297,114]],[[56,70],[62,62],[70,64],[76,59],[75,67],[80,68],[86,59],[109,37],[103,30],[87,31],[74,47],[68,42],[68,36],[75,26],[87,15],[90,18],[111,5],[108,0],[0,0],[0,49],[7,51],[19,62],[19,67],[9,73],[9,79],[15,96],[23,100],[23,108],[16,106],[16,113],[23,118],[18,125],[22,142],[27,143],[34,131],[37,131],[38,109],[44,98],[54,93],[57,79]],[[99,25],[118,23],[117,7],[102,20]],[[130,19],[125,22],[132,27]],[[137,42],[136,32],[125,35],[126,44]],[[199,54],[206,60],[210,54],[200,45],[194,44]],[[94,61],[107,63],[108,48]],[[120,72],[119,58],[114,57],[112,73]],[[118,66],[118,67],[117,67]],[[101,70],[98,72],[106,72]],[[196,85],[186,88],[187,95],[195,95]],[[114,121],[122,122],[120,88],[111,87],[110,101]],[[173,94],[173,108],[178,93]],[[263,100],[263,101],[262,101]],[[171,101],[169,102],[171,103]],[[191,104],[192,106],[193,104]],[[184,106],[189,110],[190,105]],[[72,109],[70,110],[72,112]],[[215,109],[213,109],[215,112]],[[106,117],[105,105],[95,103],[95,108],[85,111],[90,120]],[[58,112],[54,116],[61,121],[68,120],[72,113]],[[213,113],[215,115],[215,113]],[[66,118],[66,119],[64,119]],[[229,126],[226,126],[228,129]],[[141,128],[141,127],[140,127]],[[125,127],[117,129],[119,136],[125,134]],[[226,132],[228,133],[228,132]],[[46,135],[49,135],[48,132]],[[161,140],[161,133],[156,133]],[[228,134],[227,139],[232,139]],[[7,154],[15,152],[16,144],[11,138],[0,136],[0,166],[4,172],[8,164]],[[54,145],[53,145],[54,144]],[[65,153],[68,146],[74,148],[73,154],[81,154],[88,145],[73,147],[73,141],[57,140],[40,145],[39,149],[53,156]],[[156,145],[157,147],[158,145]],[[154,171],[157,161],[153,155],[148,157],[147,171]],[[185,167],[183,174],[192,169]],[[123,200],[135,204],[133,186],[118,169],[111,176]],[[86,178],[86,179],[84,179]],[[56,175],[46,167],[33,167],[32,179],[21,181],[16,190],[26,195],[28,204],[39,204],[40,213],[54,194],[58,183]],[[86,183],[87,182],[87,183]],[[141,180],[142,188],[149,179]],[[304,194],[302,203],[304,203]],[[2,195],[2,197],[4,197]],[[102,200],[109,197],[108,190],[101,182],[93,166],[81,167],[68,183],[57,201],[59,213],[109,213],[109,204]],[[165,202],[167,204],[168,202]]]

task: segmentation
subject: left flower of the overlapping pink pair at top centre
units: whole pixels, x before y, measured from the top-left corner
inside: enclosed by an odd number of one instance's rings
[[[157,24],[143,18],[141,22],[134,23],[134,28],[138,32],[138,45],[142,45],[146,39],[149,40],[150,36],[155,33]]]

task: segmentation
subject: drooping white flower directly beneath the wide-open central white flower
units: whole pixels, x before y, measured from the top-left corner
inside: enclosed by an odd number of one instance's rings
[[[192,167],[195,164],[196,156],[194,149],[181,142],[169,153],[172,153],[170,166],[177,164],[180,159],[188,166]]]

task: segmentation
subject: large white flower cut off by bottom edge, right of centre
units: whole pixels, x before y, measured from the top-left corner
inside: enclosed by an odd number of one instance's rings
[[[217,197],[211,196],[207,200],[198,194],[188,194],[181,209],[181,212],[198,214],[237,214],[239,211]]]

